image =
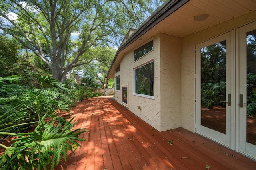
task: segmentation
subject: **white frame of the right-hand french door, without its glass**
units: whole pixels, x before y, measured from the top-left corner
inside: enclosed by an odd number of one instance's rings
[[[243,94],[243,101],[246,103],[247,94],[246,86],[246,73],[247,73],[247,61],[246,61],[246,33],[256,29],[256,21],[244,25],[243,27],[236,29],[236,144],[235,150],[246,156],[256,159],[256,145],[246,142],[246,105],[243,108],[239,107],[239,95]],[[244,115],[245,112],[245,115]]]

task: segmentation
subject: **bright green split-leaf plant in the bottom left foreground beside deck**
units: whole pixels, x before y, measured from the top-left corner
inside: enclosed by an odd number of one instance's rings
[[[45,116],[42,117],[36,129],[31,133],[11,134],[18,137],[12,140],[10,147],[6,148],[4,154],[0,157],[0,167],[2,170],[16,169],[47,169],[51,164],[51,169],[58,165],[60,158],[64,156],[67,160],[67,151],[72,150],[72,145],[80,146],[76,140],[85,139],[78,138],[78,135],[85,131],[76,129],[72,123],[74,117],[65,124],[54,122],[45,122]]]

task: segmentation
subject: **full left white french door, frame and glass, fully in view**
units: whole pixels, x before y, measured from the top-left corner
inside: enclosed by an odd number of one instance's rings
[[[196,45],[196,132],[230,147],[231,33]]]

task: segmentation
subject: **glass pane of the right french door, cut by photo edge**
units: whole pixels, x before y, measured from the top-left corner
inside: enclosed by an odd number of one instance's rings
[[[246,121],[246,141],[256,145],[256,30],[248,32],[246,48],[247,63],[247,121]]]

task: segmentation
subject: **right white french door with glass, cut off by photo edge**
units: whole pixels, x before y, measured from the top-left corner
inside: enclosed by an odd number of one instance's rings
[[[256,159],[256,22],[236,29],[236,150]]]

